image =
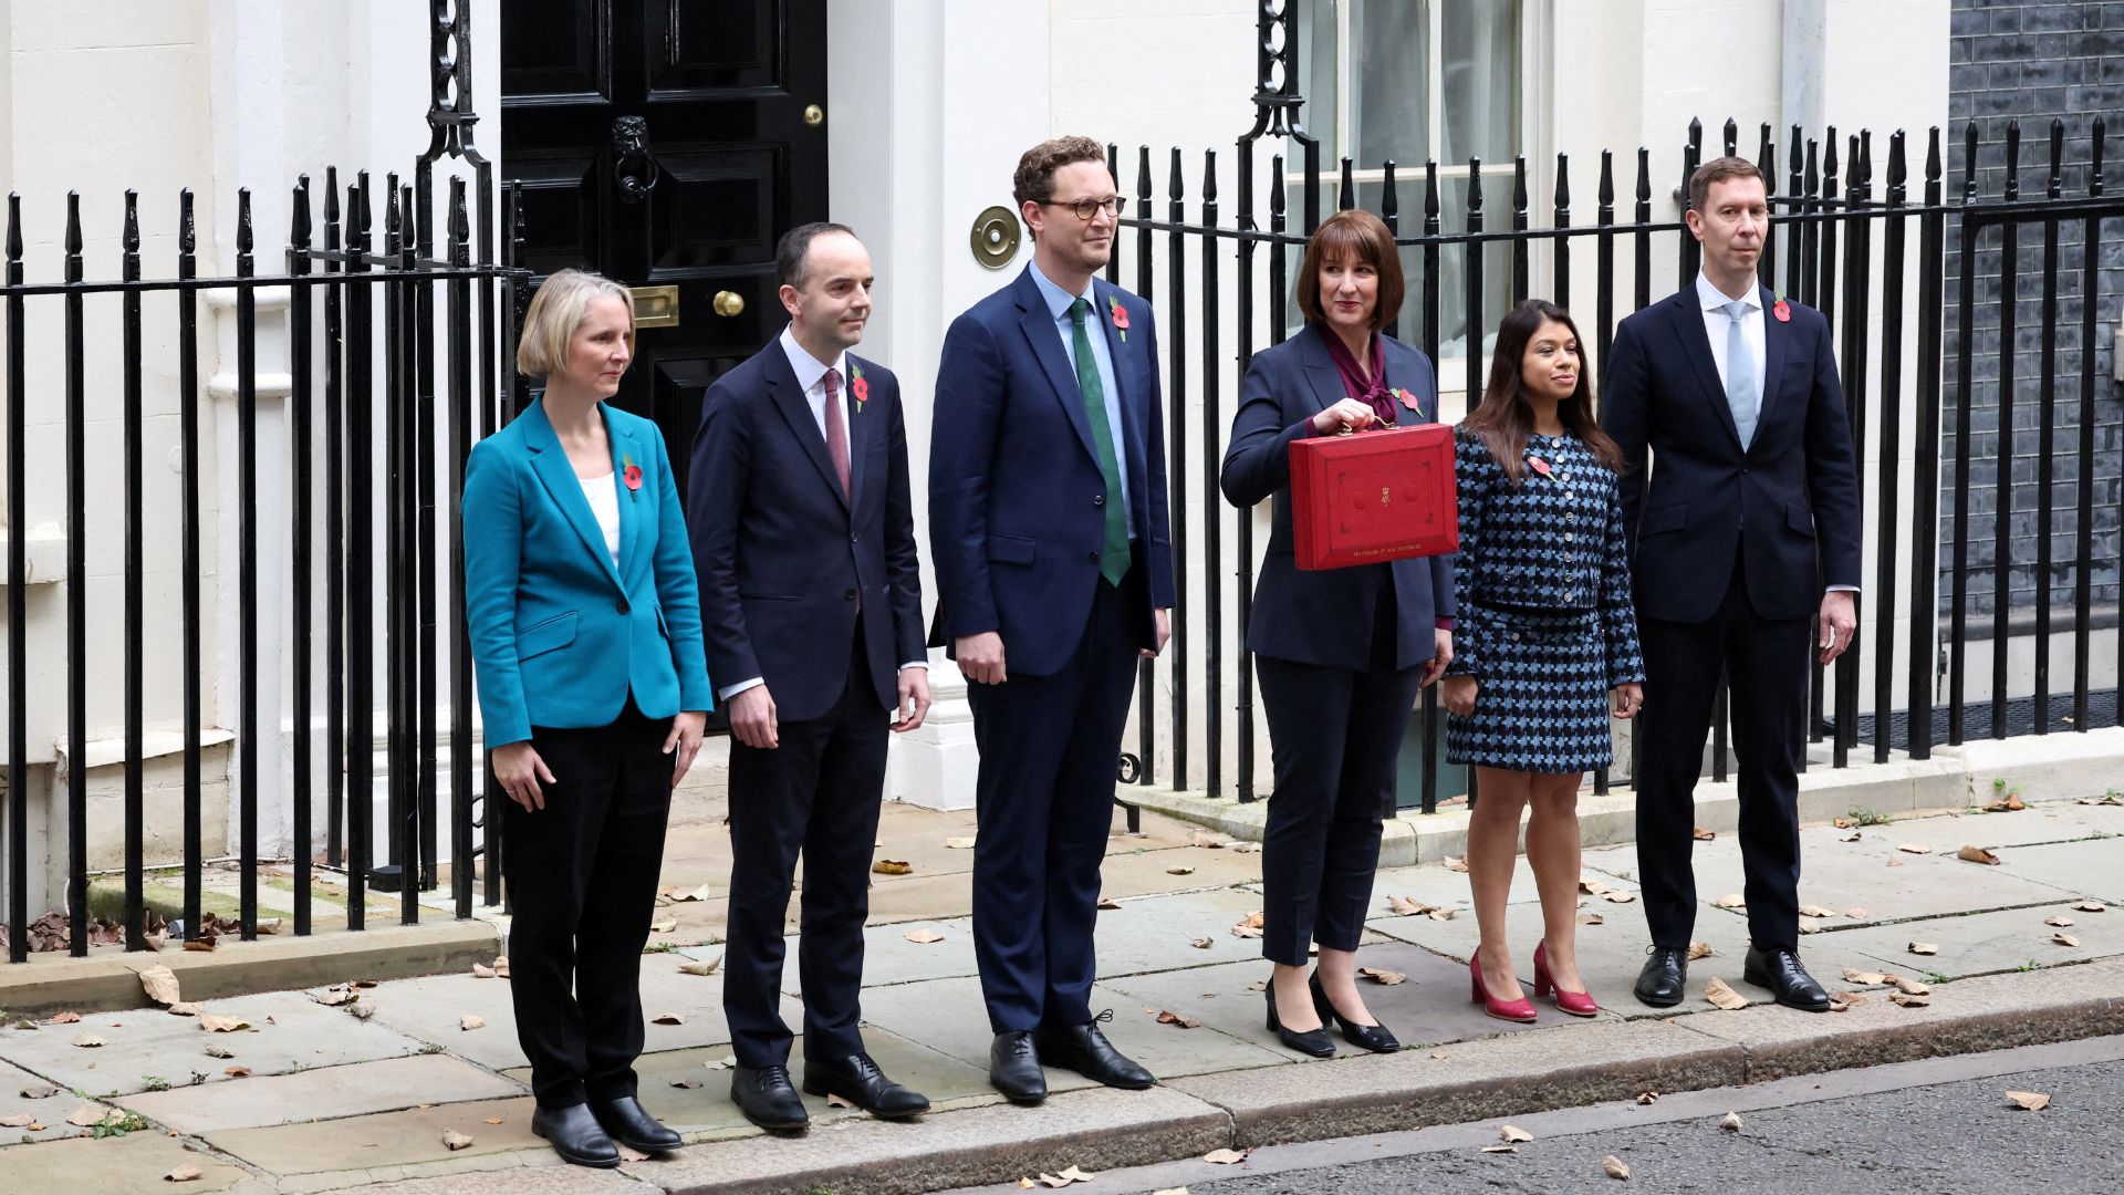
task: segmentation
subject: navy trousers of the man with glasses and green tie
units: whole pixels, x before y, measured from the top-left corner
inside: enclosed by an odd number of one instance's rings
[[[1136,651],[1149,642],[1145,585],[1141,563],[1119,587],[1100,580],[1083,638],[1054,676],[966,685],[981,751],[973,950],[996,1033],[1092,1021],[1098,868]]]

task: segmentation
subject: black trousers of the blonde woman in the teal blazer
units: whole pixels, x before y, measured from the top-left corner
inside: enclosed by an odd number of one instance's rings
[[[633,697],[595,729],[531,727],[546,808],[501,797],[510,999],[539,1108],[635,1093],[641,946],[671,812],[669,719]]]

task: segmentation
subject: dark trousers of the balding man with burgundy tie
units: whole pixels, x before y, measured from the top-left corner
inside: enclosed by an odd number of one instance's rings
[[[782,925],[803,853],[805,1057],[862,1053],[862,921],[871,912],[871,851],[886,787],[890,721],[871,693],[862,627],[850,680],[818,719],[784,721],[780,746],[731,740],[731,923],[722,953],[722,1012],[737,1065],[786,1065]]]

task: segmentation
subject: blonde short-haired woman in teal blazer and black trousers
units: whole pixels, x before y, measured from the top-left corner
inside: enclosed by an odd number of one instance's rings
[[[709,710],[701,602],[663,434],[605,404],[627,287],[546,279],[516,368],[546,393],[472,449],[465,621],[501,806],[531,1129],[578,1165],[680,1138],[635,1099],[641,946],[671,789]]]

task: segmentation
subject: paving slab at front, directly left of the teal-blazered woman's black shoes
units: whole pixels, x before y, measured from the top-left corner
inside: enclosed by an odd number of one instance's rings
[[[516,1099],[372,1112],[340,1121],[225,1129],[208,1133],[206,1142],[259,1169],[282,1176],[378,1172],[510,1150],[550,1155],[546,1142],[531,1135],[533,1110],[531,1097],[520,1095]],[[501,1123],[489,1125],[486,1121]],[[442,1144],[444,1129],[469,1135],[472,1144],[463,1150],[450,1150]]]

